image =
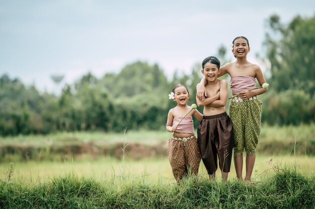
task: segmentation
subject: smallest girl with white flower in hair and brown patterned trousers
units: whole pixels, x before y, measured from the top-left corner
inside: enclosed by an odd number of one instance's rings
[[[202,114],[187,105],[190,94],[186,86],[178,84],[172,92],[174,96],[171,94],[170,99],[174,99],[177,106],[169,111],[166,130],[174,132],[169,140],[168,155],[173,175],[179,182],[189,172],[198,174],[201,157],[197,137],[194,134],[192,116],[202,120]],[[192,111],[189,112],[190,110]],[[188,112],[189,114],[184,117]],[[182,120],[181,123],[177,125],[180,120]]]

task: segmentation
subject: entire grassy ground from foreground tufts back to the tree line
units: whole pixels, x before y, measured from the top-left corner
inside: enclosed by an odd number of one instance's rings
[[[0,153],[0,208],[315,208],[314,135],[313,124],[264,127],[252,175],[256,186],[236,180],[233,164],[227,183],[219,171],[210,182],[201,162],[197,178],[177,184],[166,155],[129,157],[132,144],[165,148],[171,136],[166,131],[0,138],[0,148],[20,147],[13,155]],[[86,144],[119,144],[119,157],[99,152],[72,156],[63,149],[49,160],[38,157],[55,145]]]

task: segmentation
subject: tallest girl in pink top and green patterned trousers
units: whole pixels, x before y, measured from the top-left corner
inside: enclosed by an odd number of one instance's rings
[[[232,94],[239,94],[239,96],[231,99],[229,110],[234,134],[234,165],[238,179],[243,180],[243,152],[245,149],[245,181],[251,182],[262,116],[262,102],[257,99],[257,95],[265,93],[267,89],[260,88],[251,91],[247,89],[256,86],[255,79],[257,79],[260,86],[266,83],[266,80],[260,67],[247,61],[246,57],[250,52],[248,39],[240,36],[235,38],[232,44],[232,53],[237,60],[225,64],[220,69],[219,76],[229,74]],[[203,78],[201,85],[197,85],[197,97],[200,100],[203,100],[205,84],[206,81]]]

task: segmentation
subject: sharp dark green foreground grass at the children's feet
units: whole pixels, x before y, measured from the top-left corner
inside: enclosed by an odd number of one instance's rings
[[[74,174],[39,184],[0,181],[0,208],[314,208],[315,178],[274,168],[254,186],[188,178],[181,184],[99,181]]]

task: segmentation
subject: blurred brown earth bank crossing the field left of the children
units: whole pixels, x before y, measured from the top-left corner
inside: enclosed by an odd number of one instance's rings
[[[123,156],[138,160],[147,157],[161,157],[167,155],[167,142],[149,146],[141,143],[117,143],[113,145],[99,145],[94,142],[71,142],[55,143],[42,146],[32,145],[3,145],[0,146],[0,157],[2,159],[10,158],[8,156],[18,156],[20,160],[54,160],[64,157],[80,158],[91,155],[94,158],[100,156],[111,156],[122,159]]]

